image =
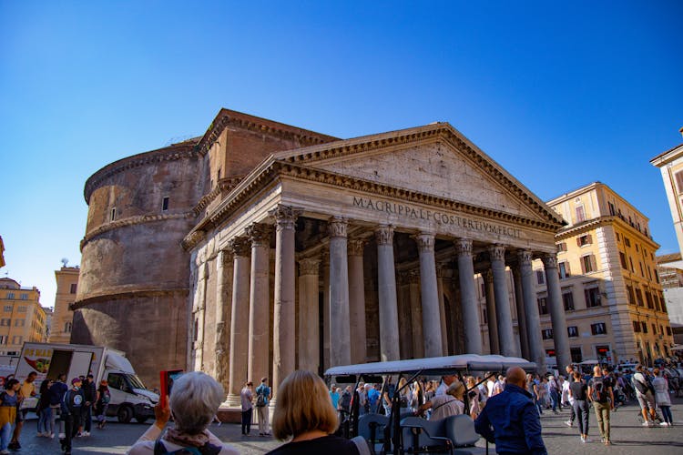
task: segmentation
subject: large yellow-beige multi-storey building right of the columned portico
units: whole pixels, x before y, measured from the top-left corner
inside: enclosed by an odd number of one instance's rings
[[[569,223],[556,243],[572,359],[668,357],[673,338],[647,217],[600,182],[547,204]],[[542,338],[554,355],[545,281],[535,267]]]

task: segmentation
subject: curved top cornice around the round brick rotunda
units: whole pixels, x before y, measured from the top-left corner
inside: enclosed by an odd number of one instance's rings
[[[175,161],[178,159],[196,158],[198,157],[195,150],[194,143],[182,143],[180,145],[159,148],[151,152],[145,152],[132,157],[119,159],[114,163],[102,167],[95,174],[90,176],[86,181],[86,187],[83,190],[86,203],[90,204],[90,196],[93,191],[107,178],[116,176],[121,172],[127,171],[135,167],[147,166],[149,164],[161,163],[163,161]]]

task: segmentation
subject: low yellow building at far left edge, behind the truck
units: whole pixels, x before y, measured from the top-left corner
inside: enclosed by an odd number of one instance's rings
[[[18,356],[25,341],[46,341],[46,315],[40,291],[0,278],[0,355]]]

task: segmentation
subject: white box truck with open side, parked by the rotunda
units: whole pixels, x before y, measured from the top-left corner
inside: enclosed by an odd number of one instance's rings
[[[120,350],[103,346],[27,342],[21,350],[15,378],[23,382],[32,371],[38,374],[36,392],[43,380],[56,380],[61,373],[66,374],[69,387],[71,379],[88,374],[93,375],[96,388],[102,379],[107,379],[111,394],[107,416],[116,416],[124,423],[133,418],[144,422],[154,417],[158,394],[145,388],[126,354]],[[36,405],[27,403],[22,406],[26,407],[35,408]]]

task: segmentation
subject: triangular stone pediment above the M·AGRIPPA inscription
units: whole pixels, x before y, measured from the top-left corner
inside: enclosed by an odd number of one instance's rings
[[[561,224],[562,219],[448,124],[333,142],[276,155],[337,175]]]

